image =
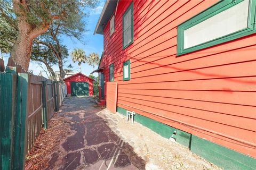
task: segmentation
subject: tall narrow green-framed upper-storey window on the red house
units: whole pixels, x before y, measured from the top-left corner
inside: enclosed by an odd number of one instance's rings
[[[123,49],[133,42],[133,3],[123,14]]]

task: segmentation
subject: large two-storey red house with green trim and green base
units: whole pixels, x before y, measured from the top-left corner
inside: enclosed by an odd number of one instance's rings
[[[255,169],[255,8],[254,0],[106,1],[94,31],[104,39],[100,97],[220,167]],[[117,93],[107,93],[113,83]]]

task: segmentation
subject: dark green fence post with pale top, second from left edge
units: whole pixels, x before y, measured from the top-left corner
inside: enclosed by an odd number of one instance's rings
[[[13,169],[24,169],[27,152],[27,120],[28,120],[28,91],[29,74],[18,73],[17,75],[17,102],[14,128]]]

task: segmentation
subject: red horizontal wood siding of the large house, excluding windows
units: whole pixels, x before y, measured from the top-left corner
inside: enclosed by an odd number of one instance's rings
[[[114,63],[117,106],[256,158],[256,34],[177,56],[177,26],[216,2],[133,1],[134,42],[123,50],[131,1],[119,1],[114,34],[104,29],[105,80]]]

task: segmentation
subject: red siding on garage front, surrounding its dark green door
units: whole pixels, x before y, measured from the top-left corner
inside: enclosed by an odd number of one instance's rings
[[[89,83],[89,95],[93,95],[93,80],[85,77],[83,74],[76,74],[75,76],[71,75],[70,77],[65,79],[65,83],[67,85],[67,94],[71,94],[71,81],[84,81]]]

